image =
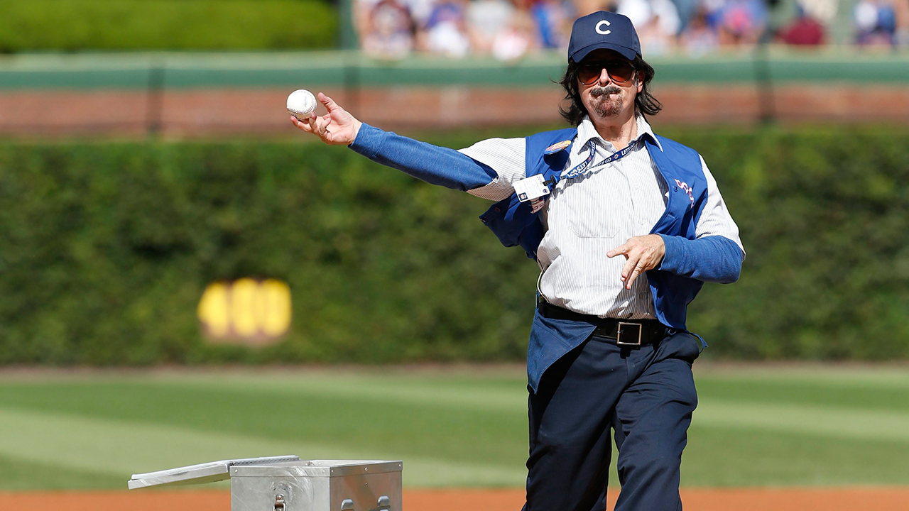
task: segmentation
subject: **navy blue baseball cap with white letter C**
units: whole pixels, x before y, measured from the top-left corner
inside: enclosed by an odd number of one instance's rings
[[[581,62],[587,54],[605,48],[614,50],[627,58],[641,56],[641,43],[631,20],[624,15],[599,11],[574,20],[571,41],[568,42],[568,58]]]

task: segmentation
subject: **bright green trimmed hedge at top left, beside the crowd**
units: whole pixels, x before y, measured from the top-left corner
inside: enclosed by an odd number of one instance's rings
[[[331,48],[324,0],[6,0],[0,52]]]

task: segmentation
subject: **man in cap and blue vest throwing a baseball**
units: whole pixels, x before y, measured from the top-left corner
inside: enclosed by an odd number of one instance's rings
[[[738,227],[704,160],[654,135],[662,106],[634,26],[574,23],[562,81],[577,127],[454,151],[329,114],[295,125],[429,183],[496,202],[481,219],[542,270],[527,355],[528,511],[602,511],[610,431],[618,511],[681,509],[679,467],[697,404],[698,337],[685,309],[704,282],[734,282]],[[623,257],[619,257],[622,255]]]

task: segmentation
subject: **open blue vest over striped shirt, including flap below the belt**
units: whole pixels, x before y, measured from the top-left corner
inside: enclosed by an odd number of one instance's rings
[[[526,138],[526,175],[542,174],[546,179],[560,175],[568,162],[571,145],[547,150],[563,142],[574,141],[577,128],[566,128],[530,135]],[[694,239],[694,231],[707,202],[707,180],[701,157],[694,149],[657,135],[644,137],[647,152],[669,185],[669,201],[663,216],[651,234],[684,236]],[[662,150],[660,147],[662,146]],[[544,226],[539,213],[530,202],[520,202],[512,194],[492,205],[480,216],[483,223],[505,246],[520,245],[527,256],[536,259],[536,250],[543,240]],[[703,283],[693,278],[676,276],[661,270],[647,271],[647,281],[654,296],[656,317],[664,325],[685,330],[688,304],[701,290]],[[584,342],[594,326],[574,321],[551,320],[536,314],[527,353],[530,384],[536,389],[545,369],[575,346]]]

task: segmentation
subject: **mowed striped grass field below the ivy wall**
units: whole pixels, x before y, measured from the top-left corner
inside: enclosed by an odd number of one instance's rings
[[[909,485],[909,370],[695,367],[683,486]],[[405,460],[405,486],[523,486],[516,367],[0,373],[0,489],[125,488],[215,459]]]

